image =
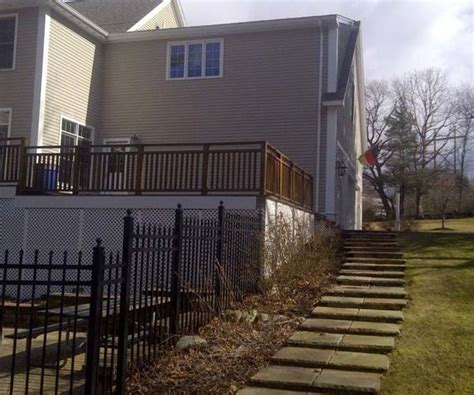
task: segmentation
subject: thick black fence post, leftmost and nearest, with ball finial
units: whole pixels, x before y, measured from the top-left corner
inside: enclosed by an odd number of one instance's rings
[[[105,254],[102,241],[97,239],[92,259],[91,303],[89,310],[89,329],[87,331],[87,362],[85,393],[95,395],[100,353],[102,319],[102,300],[104,291]]]

